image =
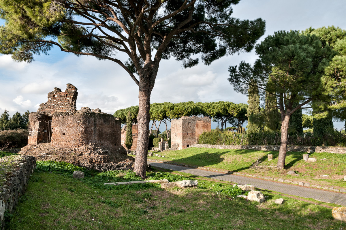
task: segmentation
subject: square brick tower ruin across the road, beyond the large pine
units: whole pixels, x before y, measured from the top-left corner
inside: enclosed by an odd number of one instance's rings
[[[186,149],[196,144],[199,135],[211,130],[208,117],[181,117],[171,121],[171,149]]]

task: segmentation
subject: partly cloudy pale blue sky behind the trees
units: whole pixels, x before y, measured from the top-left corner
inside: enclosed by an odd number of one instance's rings
[[[266,21],[265,35],[258,42],[278,30],[332,25],[346,29],[346,1],[342,0],[242,0],[233,9],[235,18]],[[117,58],[127,60],[120,53]],[[210,66],[200,63],[189,69],[183,69],[174,59],[162,60],[151,103],[220,100],[247,103],[247,97],[230,86],[228,67],[242,60],[253,63],[256,58],[252,51],[220,58]],[[138,87],[118,64],[77,57],[54,48],[48,56],[36,56],[31,63],[15,62],[10,56],[0,55],[0,112],[7,109],[12,115],[17,111],[37,111],[39,104],[48,100],[48,92],[54,87],[64,91],[67,83],[78,88],[77,109],[88,106],[113,114],[117,109],[138,105]],[[213,122],[212,129],[216,126]],[[344,122],[334,122],[334,127],[341,129]]]

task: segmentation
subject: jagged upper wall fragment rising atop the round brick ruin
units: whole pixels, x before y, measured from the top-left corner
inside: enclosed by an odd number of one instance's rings
[[[77,88],[72,84],[67,84],[64,92],[59,88],[48,93],[48,102],[40,104],[38,113],[52,115],[54,112],[75,112],[77,100]]]

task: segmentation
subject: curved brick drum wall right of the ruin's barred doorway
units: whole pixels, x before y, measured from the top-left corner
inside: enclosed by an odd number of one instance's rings
[[[93,143],[96,146],[120,146],[121,123],[111,114],[78,110],[72,115],[56,114],[52,120],[52,147],[79,148]]]

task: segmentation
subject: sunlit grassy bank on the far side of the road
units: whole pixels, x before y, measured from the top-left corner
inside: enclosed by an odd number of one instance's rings
[[[249,169],[253,162],[261,157],[262,165],[277,164],[277,151],[256,151],[256,150],[228,150],[228,149],[207,149],[207,148],[188,148],[177,151],[166,151],[161,153],[165,158],[148,157],[149,159],[173,161],[191,164],[202,167],[212,167],[225,169],[234,172],[243,172],[261,176],[284,178],[292,181],[304,181],[321,186],[333,186],[335,188],[346,188],[346,182],[342,181],[346,175],[346,154],[333,153],[311,153],[309,157],[315,157],[317,162],[307,163],[303,160],[302,152],[286,153],[286,169],[295,170],[300,177],[286,174],[286,170],[277,172],[275,170],[255,171]],[[273,154],[273,160],[268,162],[267,154]],[[321,159],[327,158],[322,161]],[[335,180],[318,179],[319,175],[335,175]]]

